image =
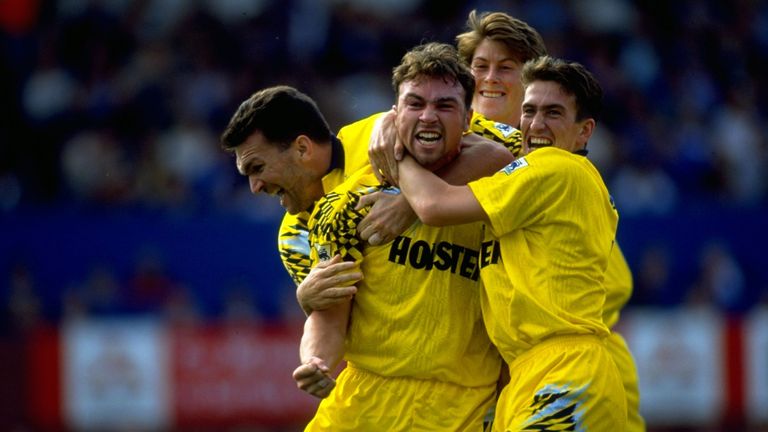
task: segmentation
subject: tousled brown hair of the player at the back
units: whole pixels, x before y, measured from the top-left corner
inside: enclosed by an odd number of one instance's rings
[[[476,10],[469,13],[467,31],[456,36],[459,55],[467,64],[472,63],[477,46],[484,39],[503,43],[520,63],[547,55],[544,39],[526,22],[503,12]]]

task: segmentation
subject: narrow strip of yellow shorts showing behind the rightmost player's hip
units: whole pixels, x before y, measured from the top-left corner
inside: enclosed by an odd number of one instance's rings
[[[645,421],[640,416],[640,388],[637,383],[635,359],[624,338],[618,333],[611,333],[605,340],[605,346],[619,369],[627,395],[627,432],[645,432]]]

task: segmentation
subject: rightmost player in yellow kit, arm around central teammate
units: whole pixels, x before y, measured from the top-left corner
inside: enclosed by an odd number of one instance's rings
[[[511,375],[494,430],[624,430],[602,318],[618,215],[582,151],[602,90],[580,64],[547,56],[525,64],[522,82],[524,157],[452,186],[406,156],[400,186],[426,224],[487,225],[483,317]]]

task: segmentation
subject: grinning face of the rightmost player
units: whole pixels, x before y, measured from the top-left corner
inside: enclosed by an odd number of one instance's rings
[[[576,97],[554,81],[534,81],[525,89],[520,128],[523,152],[559,147],[569,152],[583,149],[595,120],[576,120]]]

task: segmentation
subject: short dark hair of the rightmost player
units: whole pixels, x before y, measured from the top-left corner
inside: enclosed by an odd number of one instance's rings
[[[529,60],[523,65],[524,87],[534,81],[554,81],[576,97],[576,120],[597,121],[603,109],[603,88],[583,65],[549,56]]]

